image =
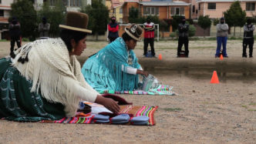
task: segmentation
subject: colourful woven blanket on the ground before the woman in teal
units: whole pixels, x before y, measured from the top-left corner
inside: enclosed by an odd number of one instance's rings
[[[112,90],[100,91],[100,94],[110,93],[110,94],[129,94],[129,95],[177,95],[172,91],[173,86],[169,85],[159,85],[156,89],[149,89],[149,91],[134,90],[134,91],[123,91],[117,92]]]

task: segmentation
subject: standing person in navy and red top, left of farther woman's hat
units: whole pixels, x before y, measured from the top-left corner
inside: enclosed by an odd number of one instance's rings
[[[116,38],[119,37],[118,35],[119,25],[116,22],[116,17],[114,16],[111,17],[111,22],[109,22],[107,28],[109,30],[109,35],[108,35],[109,43],[111,43],[115,41]]]

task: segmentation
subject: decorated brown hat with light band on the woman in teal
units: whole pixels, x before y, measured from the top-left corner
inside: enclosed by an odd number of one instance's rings
[[[124,28],[124,30],[136,41],[141,41],[140,35],[143,32],[143,28],[141,28],[140,25],[133,24],[130,26],[130,28]]]

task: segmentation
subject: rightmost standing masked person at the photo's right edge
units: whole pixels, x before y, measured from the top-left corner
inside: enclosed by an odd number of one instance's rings
[[[249,57],[252,58],[252,51],[254,48],[254,29],[255,26],[251,23],[251,18],[248,18],[244,25],[244,39],[243,39],[243,58],[247,58],[246,49],[249,45]]]

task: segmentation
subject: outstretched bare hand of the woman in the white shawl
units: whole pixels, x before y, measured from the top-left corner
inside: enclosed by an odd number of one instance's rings
[[[109,109],[113,113],[120,112],[120,107],[117,104],[118,102],[114,101],[113,99],[105,98],[102,95],[97,95],[95,102],[104,105],[106,109]]]

